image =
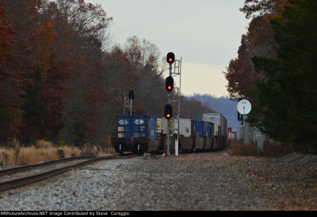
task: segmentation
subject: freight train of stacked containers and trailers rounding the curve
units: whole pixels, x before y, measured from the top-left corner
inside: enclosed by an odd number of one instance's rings
[[[228,121],[220,113],[204,113],[202,120],[171,119],[170,152],[178,150],[215,150],[223,147],[228,137]],[[117,132],[111,133],[111,144],[117,153],[135,154],[167,150],[168,121],[150,115],[117,116]],[[178,133],[179,131],[179,133]]]

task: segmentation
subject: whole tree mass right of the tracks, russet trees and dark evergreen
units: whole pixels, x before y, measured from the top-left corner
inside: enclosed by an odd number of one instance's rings
[[[250,19],[224,72],[230,98],[249,99],[247,121],[276,141],[317,153],[314,0],[245,0]]]

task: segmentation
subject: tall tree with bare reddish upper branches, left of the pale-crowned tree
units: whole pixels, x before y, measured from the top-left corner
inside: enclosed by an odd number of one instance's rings
[[[65,127],[59,139],[82,145],[92,142],[100,132],[100,107],[111,99],[102,74],[113,41],[108,31],[113,18],[107,17],[99,4],[80,0],[60,0],[56,7],[58,32],[63,35],[61,40],[67,41],[71,59],[68,70],[72,73],[67,80],[71,91],[62,119]]]

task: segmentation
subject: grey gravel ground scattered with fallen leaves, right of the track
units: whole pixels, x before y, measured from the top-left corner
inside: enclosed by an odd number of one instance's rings
[[[317,156],[139,156],[0,192],[0,210],[317,210]]]

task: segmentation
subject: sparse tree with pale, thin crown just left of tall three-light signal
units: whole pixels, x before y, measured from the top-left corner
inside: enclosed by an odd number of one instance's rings
[[[138,77],[135,93],[148,115],[157,116],[164,111],[165,78],[163,73],[168,69],[166,61],[162,61],[159,48],[146,39],[138,36],[128,37],[124,49],[131,62],[132,73]]]

